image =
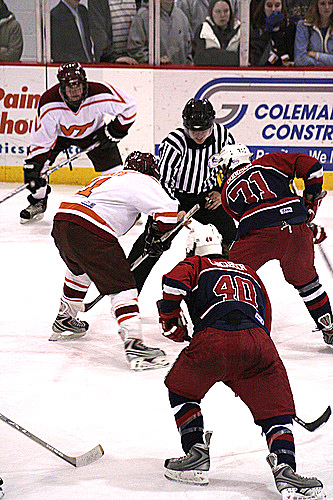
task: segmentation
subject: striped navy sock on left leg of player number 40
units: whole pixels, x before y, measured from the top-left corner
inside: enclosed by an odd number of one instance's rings
[[[182,448],[188,453],[194,444],[204,442],[201,400],[193,401],[169,390],[169,401],[181,436]]]

